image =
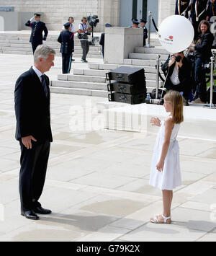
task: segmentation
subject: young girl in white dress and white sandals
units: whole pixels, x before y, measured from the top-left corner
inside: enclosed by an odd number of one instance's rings
[[[158,187],[163,193],[163,214],[151,218],[155,224],[171,224],[171,202],[173,190],[181,185],[179,166],[179,144],[176,137],[183,117],[183,98],[179,92],[168,92],[164,97],[166,112],[171,114],[166,120],[151,118],[150,123],[161,127],[153,152],[150,185]]]

